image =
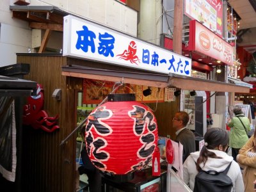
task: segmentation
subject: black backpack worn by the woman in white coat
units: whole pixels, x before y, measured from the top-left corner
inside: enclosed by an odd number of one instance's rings
[[[205,172],[203,170],[200,170],[195,177],[195,188],[193,191],[230,192],[233,188],[233,183],[230,177],[228,177],[227,172],[230,168],[231,163],[223,172],[216,172],[214,170]]]

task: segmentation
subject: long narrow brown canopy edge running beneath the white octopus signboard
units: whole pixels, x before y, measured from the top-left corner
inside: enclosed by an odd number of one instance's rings
[[[250,92],[250,87],[238,84],[180,76],[177,74],[159,74],[141,71],[137,72],[136,70],[134,70],[134,72],[127,72],[125,70],[117,71],[69,65],[62,67],[62,75],[85,79],[97,79],[102,81],[155,86],[159,88],[175,87],[182,90],[198,90],[209,92]]]

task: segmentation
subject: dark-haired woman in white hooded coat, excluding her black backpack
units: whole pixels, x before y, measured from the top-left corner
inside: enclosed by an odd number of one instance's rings
[[[223,172],[232,161],[227,175],[232,180],[234,191],[243,192],[244,184],[239,164],[225,152],[229,141],[227,131],[220,128],[208,129],[204,141],[202,150],[191,153],[183,164],[184,182],[193,191],[195,176],[200,168],[204,171]]]

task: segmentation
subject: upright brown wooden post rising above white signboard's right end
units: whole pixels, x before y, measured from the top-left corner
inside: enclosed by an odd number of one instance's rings
[[[182,54],[183,0],[174,1],[173,52]]]

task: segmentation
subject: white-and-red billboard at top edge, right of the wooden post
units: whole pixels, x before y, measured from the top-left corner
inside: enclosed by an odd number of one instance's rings
[[[223,6],[221,0],[185,0],[185,14],[223,36]]]

